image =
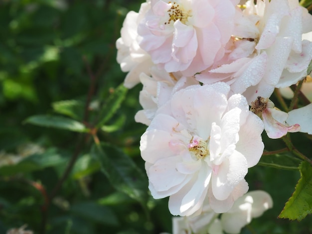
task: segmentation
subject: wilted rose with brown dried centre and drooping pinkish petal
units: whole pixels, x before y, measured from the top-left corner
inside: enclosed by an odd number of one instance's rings
[[[251,103],[250,110],[262,118],[264,129],[272,139],[281,138],[287,132],[300,131],[300,124],[298,122],[291,125],[288,124],[286,120],[289,118],[289,115],[275,108],[274,103],[268,98],[258,97]]]

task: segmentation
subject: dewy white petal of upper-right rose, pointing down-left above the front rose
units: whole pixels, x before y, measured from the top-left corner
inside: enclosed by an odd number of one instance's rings
[[[263,78],[266,70],[267,54],[261,53],[253,58],[243,73],[237,76],[236,81],[231,85],[234,93],[243,93],[248,87],[257,85]]]

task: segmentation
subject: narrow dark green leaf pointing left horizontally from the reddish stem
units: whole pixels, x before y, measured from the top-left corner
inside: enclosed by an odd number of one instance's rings
[[[70,131],[87,132],[88,128],[84,124],[67,117],[61,116],[31,116],[24,123],[30,123],[38,126],[61,128]]]

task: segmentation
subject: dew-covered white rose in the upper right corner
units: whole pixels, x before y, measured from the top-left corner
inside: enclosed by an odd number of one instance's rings
[[[298,0],[257,0],[256,5],[249,0],[242,13],[237,12],[235,25],[226,55],[197,74],[198,81],[227,82],[250,104],[307,75],[312,42],[302,35],[312,30],[312,15]]]

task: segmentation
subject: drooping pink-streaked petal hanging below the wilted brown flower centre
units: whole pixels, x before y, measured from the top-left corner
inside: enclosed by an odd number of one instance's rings
[[[264,123],[264,129],[267,132],[267,135],[271,139],[278,139],[286,135],[287,132],[298,132],[300,131],[300,125],[294,124],[287,126],[284,121],[278,121],[280,119],[286,119],[287,113],[278,111],[275,109],[267,108],[262,112],[262,118]]]

